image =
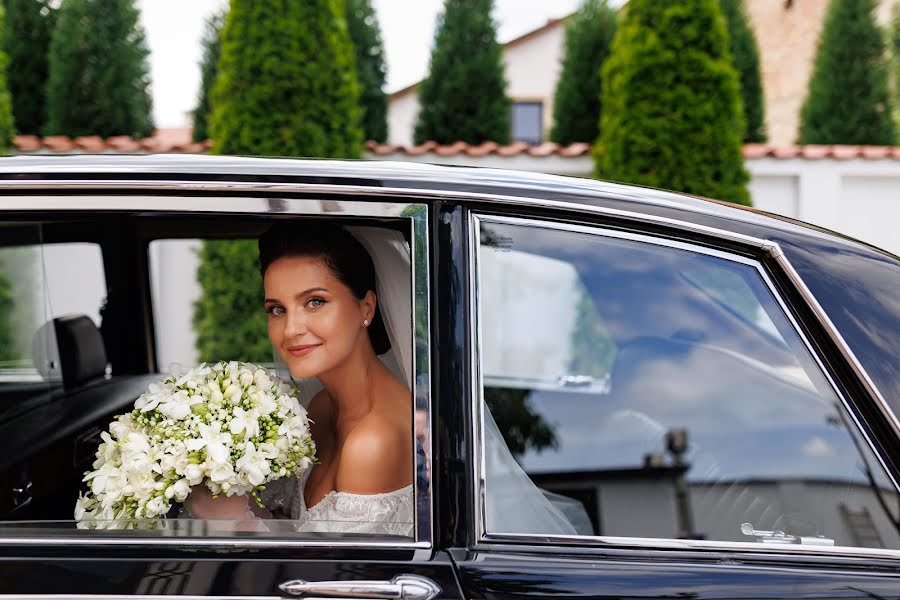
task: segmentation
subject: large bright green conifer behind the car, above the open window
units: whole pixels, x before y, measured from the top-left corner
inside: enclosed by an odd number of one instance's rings
[[[215,153],[360,156],[359,83],[340,0],[231,0],[218,71]]]

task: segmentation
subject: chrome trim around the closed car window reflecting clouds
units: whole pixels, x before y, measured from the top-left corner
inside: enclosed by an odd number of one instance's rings
[[[470,257],[469,257],[469,308],[468,308],[468,316],[470,323],[470,339],[474,340],[472,344],[472,350],[470,352],[470,370],[472,372],[472,381],[473,385],[473,394],[472,398],[475,402],[475,406],[472,410],[472,427],[475,435],[473,437],[473,461],[472,461],[472,481],[473,481],[473,489],[474,489],[474,506],[475,506],[475,519],[473,523],[472,531],[475,540],[476,546],[483,544],[491,544],[491,543],[515,543],[515,544],[580,544],[586,545],[590,544],[594,547],[628,547],[628,548],[641,548],[641,549],[659,549],[659,550],[677,550],[677,549],[695,549],[695,550],[716,550],[716,551],[749,551],[752,553],[771,553],[776,552],[779,554],[789,554],[789,555],[805,555],[805,556],[859,556],[859,557],[887,557],[887,558],[896,558],[900,559],[900,549],[875,549],[875,548],[861,548],[855,546],[802,546],[802,545],[783,545],[778,546],[775,544],[763,544],[759,542],[729,542],[729,541],[715,541],[715,540],[678,540],[678,539],[668,539],[668,538],[639,538],[639,537],[621,537],[621,536],[567,536],[567,535],[539,535],[539,534],[515,534],[515,533],[490,533],[487,531],[487,523],[486,523],[486,515],[485,515],[485,478],[484,474],[486,471],[485,467],[485,457],[484,457],[484,448],[483,448],[483,434],[484,434],[484,387],[482,385],[482,373],[481,373],[481,347],[482,347],[482,329],[481,329],[481,314],[480,314],[480,304],[478,303],[478,294],[481,289],[481,278],[480,271],[478,265],[478,257],[481,253],[481,240],[480,240],[480,226],[482,223],[499,223],[499,224],[507,224],[507,225],[519,225],[519,226],[532,226],[538,227],[542,229],[553,229],[556,231],[564,231],[564,232],[573,232],[573,233],[582,233],[587,235],[593,235],[596,237],[603,238],[613,238],[613,239],[624,239],[630,241],[637,241],[642,243],[648,243],[658,247],[664,248],[674,248],[678,250],[686,250],[690,252],[696,252],[698,254],[703,254],[707,256],[714,256],[717,258],[722,258],[724,260],[728,260],[731,262],[737,262],[740,264],[744,264],[750,267],[753,267],[757,273],[763,279],[764,284],[767,286],[769,293],[777,302],[778,306],[781,308],[784,315],[787,317],[790,326],[793,328],[794,332],[799,336],[801,342],[804,347],[809,352],[816,366],[819,368],[821,374],[825,377],[828,384],[831,386],[832,391],[840,400],[844,410],[850,419],[852,419],[855,427],[856,433],[861,435],[863,439],[866,441],[869,450],[878,460],[881,467],[884,469],[887,477],[890,479],[891,483],[894,486],[894,489],[900,493],[900,485],[898,485],[897,480],[894,478],[890,469],[884,463],[880,453],[876,450],[875,445],[872,442],[872,439],[866,432],[866,430],[861,426],[859,420],[856,418],[856,415],[853,410],[850,408],[850,404],[844,395],[840,392],[837,385],[835,384],[831,374],[825,368],[824,364],[820,360],[819,356],[813,349],[812,345],[809,342],[809,339],[806,337],[802,329],[799,328],[799,324],[794,318],[794,315],[788,309],[787,304],[784,299],[781,297],[781,294],[775,288],[771,278],[768,273],[766,273],[763,265],[755,259],[734,255],[728,252],[724,252],[721,250],[716,250],[713,248],[707,248],[705,246],[700,246],[696,244],[681,242],[677,240],[666,239],[662,237],[655,237],[652,235],[635,233],[630,231],[621,231],[615,229],[609,229],[608,227],[604,227],[603,225],[577,225],[573,223],[563,223],[552,220],[542,220],[532,217],[510,217],[510,216],[500,216],[500,215],[492,215],[492,214],[483,214],[483,213],[470,213],[469,215],[469,241],[470,241]],[[754,243],[753,246],[762,249],[770,256],[780,255],[782,260],[785,263],[790,265],[787,259],[784,257],[783,252],[781,252],[778,244],[774,242],[770,242],[767,240],[754,239],[750,238]],[[781,264],[781,263],[779,263]],[[799,276],[797,276],[799,278]],[[801,280],[802,281],[802,280]],[[810,292],[807,290],[807,294],[810,295]],[[830,322],[829,322],[830,323]],[[831,325],[833,327],[833,325]],[[849,349],[848,349],[849,350]],[[888,413],[891,414],[891,413]],[[776,547],[777,546],[777,547]]]

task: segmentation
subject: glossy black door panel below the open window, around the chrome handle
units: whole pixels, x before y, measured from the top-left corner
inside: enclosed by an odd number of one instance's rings
[[[446,554],[432,559],[413,551],[339,552],[333,548],[277,552],[0,549],[0,595],[22,598],[48,594],[279,597],[283,595],[279,584],[294,579],[389,581],[400,574],[427,577],[441,588],[442,597],[460,597]]]

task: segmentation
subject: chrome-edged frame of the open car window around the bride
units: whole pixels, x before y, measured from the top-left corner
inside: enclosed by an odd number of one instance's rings
[[[180,547],[180,548],[336,548],[336,549],[404,549],[404,550],[430,550],[434,547],[434,432],[433,411],[434,399],[431,390],[431,276],[429,249],[429,205],[421,198],[395,197],[378,195],[372,199],[365,199],[367,194],[360,190],[354,190],[354,199],[322,198],[322,194],[311,195],[310,190],[303,184],[272,184],[244,183],[244,182],[216,182],[216,191],[209,190],[203,195],[187,192],[193,190],[196,182],[168,182],[164,189],[160,189],[160,182],[147,182],[146,188],[140,181],[97,182],[95,187],[103,189],[103,195],[92,195],[89,192],[91,184],[80,182],[74,186],[81,188],[79,191],[61,188],[47,191],[40,195],[17,196],[15,192],[4,196],[3,207],[0,208],[0,219],[9,213],[15,213],[17,217],[33,215],[36,219],[45,218],[54,212],[62,212],[67,215],[77,216],[79,213],[110,212],[110,213],[142,213],[148,215],[162,214],[210,214],[221,213],[229,217],[246,215],[248,217],[278,216],[283,217],[331,217],[341,219],[345,217],[362,217],[375,219],[390,219],[393,221],[407,220],[410,227],[410,277],[411,277],[411,305],[412,318],[412,362],[413,381],[410,382],[414,402],[416,398],[422,398],[426,413],[426,427],[428,432],[429,448],[426,448],[425,469],[429,473],[430,481],[428,489],[423,493],[427,501],[422,504],[427,506],[426,511],[419,510],[419,503],[415,502],[413,539],[412,540],[386,540],[372,539],[303,539],[291,537],[278,538],[251,538],[251,537],[195,537],[184,535],[178,537],[165,536],[118,536],[102,532],[85,533],[58,533],[58,532],[29,532],[27,535],[10,534],[0,528],[0,545],[3,546],[140,546],[140,547]],[[280,194],[273,196],[271,189],[277,187]],[[83,188],[88,188],[87,190]],[[150,193],[144,192],[153,190]],[[118,192],[111,195],[110,191]],[[88,192],[88,193],[84,193]],[[258,193],[258,195],[255,195]],[[282,195],[283,194],[283,195]],[[372,194],[375,196],[375,194]],[[359,198],[359,199],[357,199]],[[76,199],[76,202],[73,202]],[[213,202],[215,200],[215,202]],[[74,205],[74,206],[73,206]],[[424,257],[417,256],[418,250],[422,250]],[[147,274],[149,286],[149,272]],[[149,288],[148,288],[149,289]],[[150,331],[148,340],[152,343],[154,332]],[[419,351],[423,348],[424,351]],[[155,356],[155,348],[153,351]],[[410,415],[413,418],[413,415]],[[415,456],[415,438],[413,444],[413,456]],[[418,498],[418,464],[413,477],[414,497]]]

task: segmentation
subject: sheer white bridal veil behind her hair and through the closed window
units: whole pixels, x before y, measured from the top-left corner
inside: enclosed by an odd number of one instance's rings
[[[365,247],[375,265],[378,307],[391,341],[390,351],[379,358],[412,389],[413,288],[409,246],[400,232],[390,229],[358,226],[346,229]],[[290,372],[277,352],[275,361],[279,375],[289,380]],[[307,402],[322,387],[317,379],[296,383],[300,386],[301,399]],[[575,534],[575,527],[557,507],[557,504],[564,507],[565,501],[551,502],[532,483],[510,453],[487,407],[484,425],[488,530],[494,533]]]

